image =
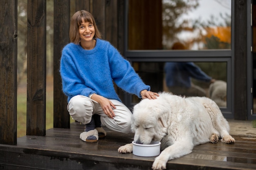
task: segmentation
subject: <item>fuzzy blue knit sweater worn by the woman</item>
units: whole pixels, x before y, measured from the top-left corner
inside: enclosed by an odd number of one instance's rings
[[[92,50],[80,45],[67,44],[62,50],[60,73],[63,92],[68,101],[76,95],[99,94],[120,100],[113,81],[124,91],[141,98],[140,92],[150,90],[130,63],[108,41],[96,40]]]

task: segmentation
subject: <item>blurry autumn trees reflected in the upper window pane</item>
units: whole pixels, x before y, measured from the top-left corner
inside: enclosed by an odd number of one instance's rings
[[[163,46],[171,49],[173,42],[180,41],[180,35],[187,35],[183,43],[191,49],[230,49],[231,15],[220,13],[219,17],[210,16],[205,22],[199,18],[186,19],[184,14],[195,11],[199,0],[163,0]],[[227,4],[219,3],[225,8]],[[213,44],[215,46],[213,47]]]

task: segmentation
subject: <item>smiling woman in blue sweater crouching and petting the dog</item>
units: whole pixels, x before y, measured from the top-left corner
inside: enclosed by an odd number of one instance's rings
[[[155,99],[130,63],[108,41],[104,41],[93,16],[77,11],[70,22],[70,44],[62,51],[60,73],[63,92],[68,97],[70,116],[85,124],[80,138],[97,142],[109,129],[130,132],[131,111],[121,102],[113,81],[139,98]]]

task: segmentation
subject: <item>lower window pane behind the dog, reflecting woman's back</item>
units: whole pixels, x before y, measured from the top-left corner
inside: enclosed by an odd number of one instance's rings
[[[153,92],[206,96],[227,107],[226,62],[134,62],[133,67]]]

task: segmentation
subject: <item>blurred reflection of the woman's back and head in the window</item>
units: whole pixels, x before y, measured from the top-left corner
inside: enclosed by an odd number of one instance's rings
[[[173,44],[172,49],[184,50],[186,48],[182,43],[177,42]],[[211,83],[215,81],[193,62],[167,62],[164,70],[169,91],[177,95],[206,96],[204,89],[191,83],[191,78]]]

